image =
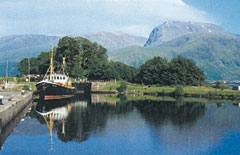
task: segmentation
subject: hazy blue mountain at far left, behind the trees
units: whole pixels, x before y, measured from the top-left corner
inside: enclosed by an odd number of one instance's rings
[[[12,35],[0,38],[0,61],[19,62],[26,57],[35,57],[41,51],[48,51],[51,44],[57,44],[57,36]]]

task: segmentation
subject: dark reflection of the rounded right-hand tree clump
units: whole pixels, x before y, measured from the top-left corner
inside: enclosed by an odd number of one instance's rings
[[[183,98],[177,98],[176,102],[138,101],[135,106],[147,122],[157,127],[168,121],[180,127],[192,125],[204,115],[206,109],[203,103],[183,102]]]

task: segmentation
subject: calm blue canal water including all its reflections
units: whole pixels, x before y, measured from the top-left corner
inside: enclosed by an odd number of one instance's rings
[[[70,153],[240,154],[240,107],[99,96],[38,103],[0,150]]]

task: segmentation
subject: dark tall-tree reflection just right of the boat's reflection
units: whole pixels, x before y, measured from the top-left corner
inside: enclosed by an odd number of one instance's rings
[[[82,142],[89,138],[92,132],[102,132],[106,122],[108,112],[104,107],[87,105],[82,107],[80,104],[73,104],[72,111],[67,118],[65,134],[62,126],[58,128],[58,137],[64,142]]]

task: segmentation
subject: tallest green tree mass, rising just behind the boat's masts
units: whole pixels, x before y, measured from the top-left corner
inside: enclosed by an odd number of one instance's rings
[[[62,57],[66,57],[67,72],[75,78],[84,77],[85,72],[81,73],[83,69],[87,71],[90,66],[93,67],[100,61],[108,63],[106,49],[82,37],[66,36],[61,38],[55,54],[55,60],[59,67]],[[93,64],[93,61],[97,63]]]

